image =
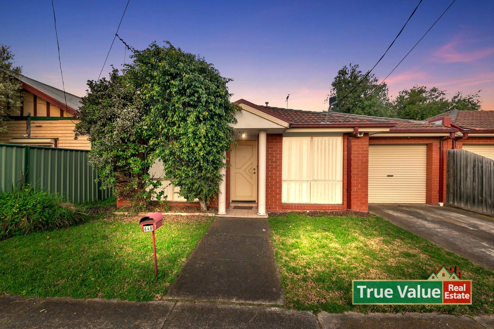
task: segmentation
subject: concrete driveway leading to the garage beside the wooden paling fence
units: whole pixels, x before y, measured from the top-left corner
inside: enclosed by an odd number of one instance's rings
[[[494,268],[492,217],[416,204],[372,204],[369,211],[477,264]]]

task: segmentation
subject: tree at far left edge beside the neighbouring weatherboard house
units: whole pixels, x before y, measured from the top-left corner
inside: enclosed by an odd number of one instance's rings
[[[22,83],[16,78],[22,68],[15,66],[10,47],[0,44],[0,133],[6,133],[5,116],[20,112],[24,99]]]

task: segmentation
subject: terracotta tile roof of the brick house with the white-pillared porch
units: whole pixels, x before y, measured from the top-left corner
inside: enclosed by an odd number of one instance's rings
[[[321,124],[326,120],[327,111],[304,111],[284,109],[271,106],[262,106],[265,109],[271,110],[279,115],[282,115],[293,121],[293,124]],[[449,127],[429,123],[427,121],[416,121],[396,118],[386,118],[379,116],[348,114],[340,112],[329,112],[328,124],[336,123],[390,123],[396,124],[390,128],[390,131],[396,130],[451,130]]]

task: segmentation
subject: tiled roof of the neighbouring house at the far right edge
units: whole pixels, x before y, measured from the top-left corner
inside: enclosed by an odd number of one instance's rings
[[[453,124],[467,130],[494,130],[494,111],[451,110],[433,116],[428,121],[451,117]]]

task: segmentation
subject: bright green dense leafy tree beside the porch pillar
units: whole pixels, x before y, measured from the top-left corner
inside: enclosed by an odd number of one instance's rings
[[[129,73],[148,111],[144,138],[153,158],[161,159],[166,179],[180,186],[182,197],[199,199],[206,210],[218,192],[224,152],[235,143],[231,123],[240,108],[230,102],[231,79],[168,42],[152,43],[133,58]]]

